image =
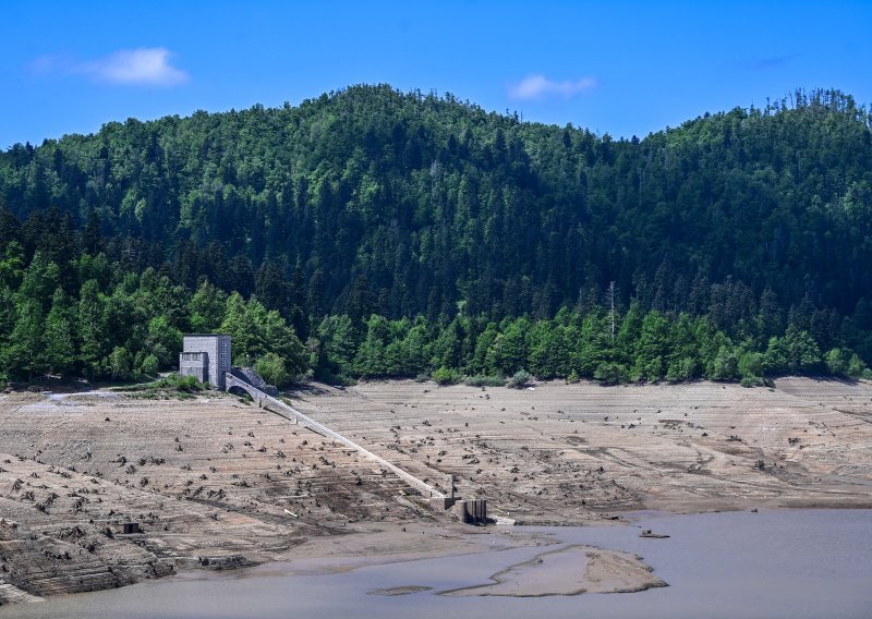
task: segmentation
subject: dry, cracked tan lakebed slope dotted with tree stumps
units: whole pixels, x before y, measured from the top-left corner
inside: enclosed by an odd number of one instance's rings
[[[290,401],[519,524],[622,512],[872,507],[872,385],[784,378],[530,390],[367,383]],[[138,522],[142,534],[122,535]],[[470,535],[346,446],[229,395],[0,395],[0,604],[186,568],[474,553]],[[485,532],[487,530],[484,530]]]

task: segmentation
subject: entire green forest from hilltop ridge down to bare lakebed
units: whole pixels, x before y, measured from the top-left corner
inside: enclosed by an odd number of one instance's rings
[[[276,384],[868,376],[870,265],[839,92],[613,139],[354,86],[0,153],[0,380],[154,375],[189,331]]]

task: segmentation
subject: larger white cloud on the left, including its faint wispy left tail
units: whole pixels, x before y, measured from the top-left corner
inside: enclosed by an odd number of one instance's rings
[[[187,81],[172,66],[173,53],[164,47],[122,49],[106,58],[78,61],[66,56],[43,56],[28,65],[36,74],[87,75],[97,82],[144,86],[177,86]]]

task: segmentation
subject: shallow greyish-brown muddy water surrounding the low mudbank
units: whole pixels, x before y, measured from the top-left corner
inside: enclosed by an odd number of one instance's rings
[[[642,530],[670,537],[643,538]],[[865,618],[872,608],[871,510],[645,515],[627,526],[502,531],[494,534],[535,533],[543,544],[317,574],[301,573],[306,566],[299,562],[193,572],[7,607],[0,617]],[[494,574],[573,546],[641,556],[669,586],[541,597],[444,595],[486,591]]]

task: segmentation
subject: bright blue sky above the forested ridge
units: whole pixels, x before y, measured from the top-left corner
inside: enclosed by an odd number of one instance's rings
[[[0,0],[0,148],[349,84],[629,137],[795,88],[872,102],[872,1]]]

